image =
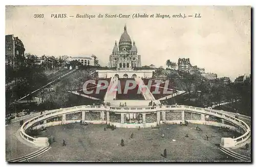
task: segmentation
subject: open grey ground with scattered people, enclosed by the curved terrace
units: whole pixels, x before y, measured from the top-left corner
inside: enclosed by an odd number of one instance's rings
[[[202,131],[197,131],[196,126]],[[196,124],[161,125],[158,129],[140,130],[117,128],[114,131],[104,131],[103,127],[79,123],[49,127],[39,136],[55,137],[56,142],[47,153],[31,161],[233,161],[218,149],[218,145],[221,137],[238,135]],[[134,138],[130,139],[132,133]],[[67,146],[62,146],[62,139]],[[124,147],[120,146],[121,139]],[[164,149],[167,149],[166,158],[161,156]]]

